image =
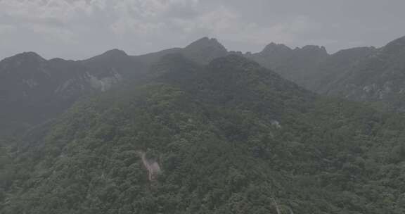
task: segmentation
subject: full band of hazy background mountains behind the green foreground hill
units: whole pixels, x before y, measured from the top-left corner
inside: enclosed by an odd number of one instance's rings
[[[375,49],[359,47],[332,55],[322,46],[290,49],[271,43],[259,53],[227,51],[217,39],[199,39],[185,48],[128,56],[110,50],[83,61],[60,58],[45,60],[37,53],[20,53],[0,63],[1,132],[24,130],[53,118],[79,97],[105,92],[125,80],[142,80],[150,66],[168,53],[181,53],[197,63],[238,54],[257,61],[281,76],[320,94],[356,101],[378,102],[376,106],[405,111],[401,87],[405,65],[404,37]]]

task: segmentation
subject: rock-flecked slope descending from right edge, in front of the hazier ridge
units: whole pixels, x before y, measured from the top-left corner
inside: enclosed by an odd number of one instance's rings
[[[390,42],[357,61],[345,75],[323,89],[328,95],[356,101],[378,102],[405,111],[405,37]]]

